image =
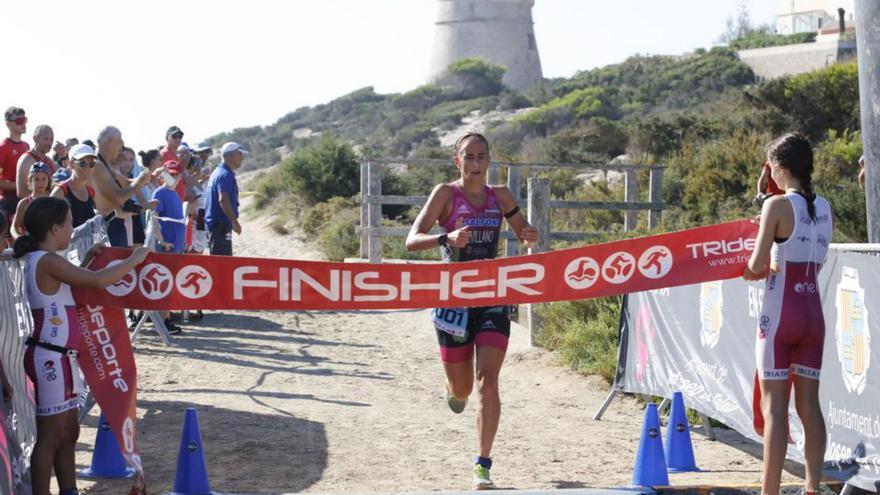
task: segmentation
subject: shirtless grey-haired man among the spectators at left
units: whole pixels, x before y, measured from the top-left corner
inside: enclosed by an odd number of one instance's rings
[[[140,207],[132,200],[135,191],[150,181],[150,174],[141,172],[137,178],[129,180],[114,171],[113,163],[122,151],[124,143],[122,132],[116,127],[107,126],[98,134],[98,160],[92,171],[91,184],[95,188],[95,207],[99,215],[107,215],[116,210],[116,217],[107,223],[107,237],[110,245],[129,247],[126,218],[140,213]]]

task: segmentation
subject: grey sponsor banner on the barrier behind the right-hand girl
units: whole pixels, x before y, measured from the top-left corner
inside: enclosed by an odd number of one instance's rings
[[[830,252],[819,274],[825,318],[820,399],[828,430],[827,475],[880,488],[880,259]],[[688,407],[760,441],[753,427],[755,340],[762,283],[703,282],[630,294],[621,336],[623,390],[684,394]],[[803,462],[803,427],[790,407],[788,456]]]

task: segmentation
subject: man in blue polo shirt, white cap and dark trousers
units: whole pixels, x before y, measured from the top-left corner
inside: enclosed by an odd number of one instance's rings
[[[213,255],[232,256],[232,233],[241,234],[238,223],[238,182],[235,171],[247,154],[240,144],[229,142],[220,148],[223,161],[211,172],[205,198],[205,226],[208,249]]]

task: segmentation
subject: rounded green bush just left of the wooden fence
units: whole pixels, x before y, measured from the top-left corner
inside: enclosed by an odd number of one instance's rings
[[[350,197],[360,190],[360,165],[351,146],[322,137],[281,162],[281,180],[308,204],[335,196]]]

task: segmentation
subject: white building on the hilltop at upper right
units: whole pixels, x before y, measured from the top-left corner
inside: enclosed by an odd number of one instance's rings
[[[839,14],[844,10],[847,28],[855,26],[853,12],[855,0],[778,0],[776,16],[778,34],[815,33],[839,31]],[[824,33],[823,33],[824,34]]]

